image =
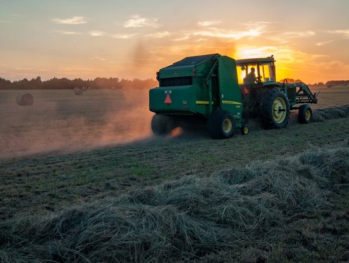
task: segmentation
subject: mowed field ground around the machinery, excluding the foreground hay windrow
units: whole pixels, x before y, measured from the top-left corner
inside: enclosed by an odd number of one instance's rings
[[[325,108],[349,104],[347,87],[321,90],[319,104],[313,107],[319,115]],[[31,108],[17,106],[13,92],[0,92],[0,218],[4,224],[28,216],[60,214],[68,207],[83,207],[99,200],[103,203],[172,180],[210,178],[224,170],[249,169],[246,165],[256,161],[292,163],[293,156],[304,152],[347,152],[348,147],[349,114],[317,118],[306,125],[299,124],[292,114],[285,129],[256,127],[247,136],[236,134],[221,141],[211,140],[204,129],[156,138],[150,135],[152,114],[147,112],[144,91],[127,95],[119,91],[88,91],[80,97],[70,95],[72,91],[46,92],[31,92]],[[116,100],[123,102],[115,104]],[[349,160],[347,155],[343,158]],[[326,159],[319,162],[326,163]],[[340,172],[347,177],[345,169]],[[283,177],[283,172],[278,175]],[[342,191],[333,190],[328,196],[329,205],[289,215],[287,227],[282,230],[284,238],[267,242],[277,233],[263,234],[264,243],[257,238],[261,243],[246,241],[238,249],[216,249],[200,260],[349,260],[349,195],[345,184],[342,187]],[[7,249],[0,241],[0,258],[9,255],[4,252]],[[199,260],[198,256],[191,260]]]

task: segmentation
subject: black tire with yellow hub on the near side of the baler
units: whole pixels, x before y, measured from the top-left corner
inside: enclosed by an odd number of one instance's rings
[[[227,110],[216,110],[208,116],[207,131],[212,139],[228,139],[235,129],[234,116]]]

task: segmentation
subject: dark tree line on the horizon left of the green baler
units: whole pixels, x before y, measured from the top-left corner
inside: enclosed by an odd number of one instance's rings
[[[91,87],[92,89],[151,89],[158,86],[158,81],[149,79],[133,80],[121,79],[117,77],[97,77],[93,80],[83,80],[81,78],[75,78],[73,80],[68,78],[51,78],[49,80],[41,80],[41,77],[32,78],[28,80],[24,78],[22,80],[10,81],[8,79],[0,77],[0,90],[69,90],[75,87]]]

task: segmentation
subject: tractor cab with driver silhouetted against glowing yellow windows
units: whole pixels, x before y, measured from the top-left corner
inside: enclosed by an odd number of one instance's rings
[[[239,84],[253,85],[256,83],[275,82],[274,62],[273,56],[236,60],[236,72]]]

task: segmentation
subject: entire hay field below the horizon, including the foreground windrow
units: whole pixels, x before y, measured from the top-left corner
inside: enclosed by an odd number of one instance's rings
[[[0,91],[0,261],[346,262],[349,88],[310,89],[228,140],[154,137],[148,91]]]

